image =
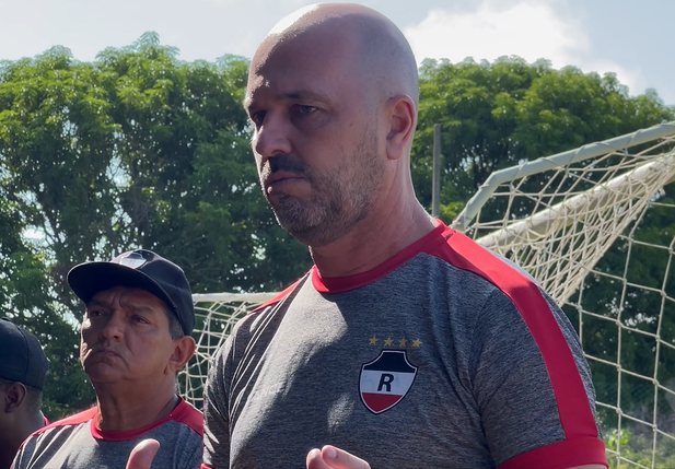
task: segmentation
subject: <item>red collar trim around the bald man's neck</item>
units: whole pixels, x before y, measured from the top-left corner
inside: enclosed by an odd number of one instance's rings
[[[321,275],[321,272],[316,266],[313,266],[311,270],[312,285],[319,293],[342,293],[375,283],[392,273],[394,270],[398,269],[418,254],[433,250],[435,245],[446,243],[446,239],[452,236],[455,231],[449,228],[440,220],[438,220],[438,226],[435,226],[422,238],[416,241],[410,246],[366,272],[361,272],[349,277],[326,278]]]

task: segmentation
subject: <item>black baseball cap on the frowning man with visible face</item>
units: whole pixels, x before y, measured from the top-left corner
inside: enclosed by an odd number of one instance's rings
[[[183,269],[151,250],[129,250],[109,262],[80,263],[68,272],[68,284],[84,303],[115,286],[146,290],[166,303],[186,336],[195,328],[193,292]]]

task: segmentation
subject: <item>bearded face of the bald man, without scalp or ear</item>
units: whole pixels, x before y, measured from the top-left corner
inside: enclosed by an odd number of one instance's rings
[[[360,85],[348,45],[317,37],[265,47],[245,102],[260,186],[282,227],[323,246],[376,203],[384,173],[379,104]]]

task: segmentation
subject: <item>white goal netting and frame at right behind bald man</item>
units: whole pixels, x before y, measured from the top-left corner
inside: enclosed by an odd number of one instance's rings
[[[578,329],[613,468],[675,468],[675,122],[493,173],[455,223]]]

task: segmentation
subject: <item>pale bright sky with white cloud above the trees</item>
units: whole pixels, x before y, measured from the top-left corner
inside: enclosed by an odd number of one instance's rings
[[[251,58],[283,16],[306,0],[0,0],[0,59],[60,45],[78,60],[133,43],[147,31],[181,59]],[[419,62],[505,55],[584,72],[615,72],[631,95],[654,89],[675,105],[675,1],[366,0],[405,33]]]

